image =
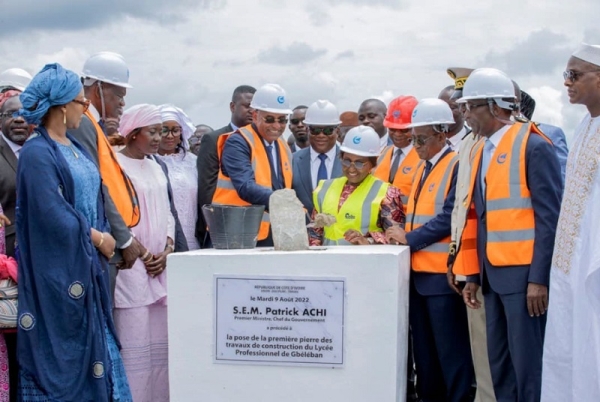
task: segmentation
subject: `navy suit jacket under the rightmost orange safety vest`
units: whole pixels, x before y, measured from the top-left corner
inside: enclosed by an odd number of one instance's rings
[[[531,204],[535,221],[535,241],[531,265],[495,267],[487,258],[487,228],[485,201],[481,193],[481,164],[477,168],[477,178],[473,199],[477,213],[477,253],[481,277],[470,276],[468,281],[482,281],[486,275],[492,290],[499,294],[525,293],[527,285],[537,283],[548,286],[550,266],[558,214],[562,198],[562,174],[556,151],[552,144],[539,135],[530,135],[525,150],[527,187],[531,192]],[[485,287],[483,289],[486,291]]]

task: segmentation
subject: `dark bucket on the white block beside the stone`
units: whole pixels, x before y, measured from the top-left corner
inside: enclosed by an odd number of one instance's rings
[[[256,247],[264,211],[264,205],[203,205],[202,214],[208,224],[213,247],[226,250]]]

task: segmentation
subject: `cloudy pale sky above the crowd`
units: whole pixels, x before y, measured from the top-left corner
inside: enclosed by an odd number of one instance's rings
[[[241,84],[277,83],[292,106],[341,112],[364,99],[437,97],[448,67],[495,67],[537,102],[534,120],[571,138],[586,110],[562,71],[600,44],[598,0],[3,0],[0,71],[59,62],[81,72],[99,51],[130,69],[127,107],[173,103],[195,124],[229,122]]]

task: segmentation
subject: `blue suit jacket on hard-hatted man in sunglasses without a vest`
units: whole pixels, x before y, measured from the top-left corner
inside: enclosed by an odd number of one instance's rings
[[[340,147],[336,148],[336,158],[333,161],[333,169],[331,170],[330,179],[336,179],[342,176],[342,163],[340,162]],[[292,162],[293,166],[293,180],[292,189],[296,191],[296,196],[308,211],[308,214],[312,214],[315,206],[313,204],[313,190],[312,187],[312,175],[310,169],[310,147],[300,149],[294,153],[294,159]]]

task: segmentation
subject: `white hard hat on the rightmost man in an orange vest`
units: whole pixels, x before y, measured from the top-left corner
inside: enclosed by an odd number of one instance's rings
[[[514,103],[503,101],[510,98],[516,101],[512,80],[495,68],[478,68],[473,71],[463,87],[463,96],[457,103],[466,103],[474,99],[494,99],[503,109],[512,109]]]

